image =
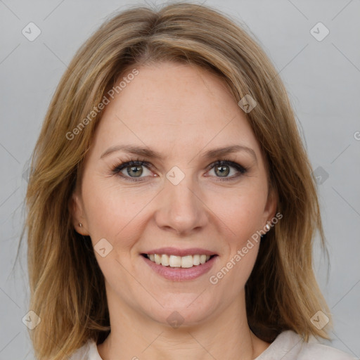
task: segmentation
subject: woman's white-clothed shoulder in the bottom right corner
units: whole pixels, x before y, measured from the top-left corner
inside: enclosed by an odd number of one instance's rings
[[[314,337],[304,342],[293,330],[279,334],[274,342],[255,360],[356,360],[335,347],[322,345]]]

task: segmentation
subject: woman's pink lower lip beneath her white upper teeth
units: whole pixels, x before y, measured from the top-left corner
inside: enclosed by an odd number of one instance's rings
[[[194,280],[195,278],[206,274],[207,271],[210,271],[218,257],[217,255],[212,257],[210,260],[205,262],[205,264],[194,265],[193,267],[189,268],[182,268],[158,265],[155,262],[152,262],[147,257],[143,257],[143,255],[140,256],[143,258],[146,264],[150,266],[151,269],[153,269],[163,278],[167,278],[167,280],[172,281]]]

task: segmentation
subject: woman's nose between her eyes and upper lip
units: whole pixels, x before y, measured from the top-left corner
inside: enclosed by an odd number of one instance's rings
[[[155,221],[160,229],[177,235],[189,235],[202,229],[208,221],[208,208],[198,183],[186,175],[179,184],[165,179],[158,198]]]

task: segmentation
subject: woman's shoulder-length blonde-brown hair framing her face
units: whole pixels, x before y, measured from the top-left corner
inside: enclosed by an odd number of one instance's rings
[[[60,360],[110,332],[105,283],[91,239],[72,226],[70,198],[103,110],[68,139],[120,75],[148,63],[175,61],[217,74],[234,101],[249,94],[246,116],[266,157],[281,221],[266,233],[245,285],[248,323],[262,340],[283,330],[328,339],[311,316],[330,311],[312,268],[312,242],[325,238],[316,182],[288,95],[264,51],[233,20],[212,8],[177,3],[159,11],[130,8],[107,20],[75,54],[49,105],[32,154],[27,188],[30,330],[39,360]],[[331,325],[331,321],[328,326]]]

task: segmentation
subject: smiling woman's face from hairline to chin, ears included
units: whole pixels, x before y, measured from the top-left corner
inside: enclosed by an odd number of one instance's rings
[[[73,197],[74,224],[91,236],[110,311],[160,323],[177,311],[199,323],[245,299],[259,243],[241,250],[276,201],[259,143],[220,79],[178,63],[138,70],[98,124]],[[220,150],[231,146],[243,148]],[[119,167],[130,160],[145,163]],[[163,264],[145,255],[155,253]],[[198,264],[198,255],[215,256]]]

